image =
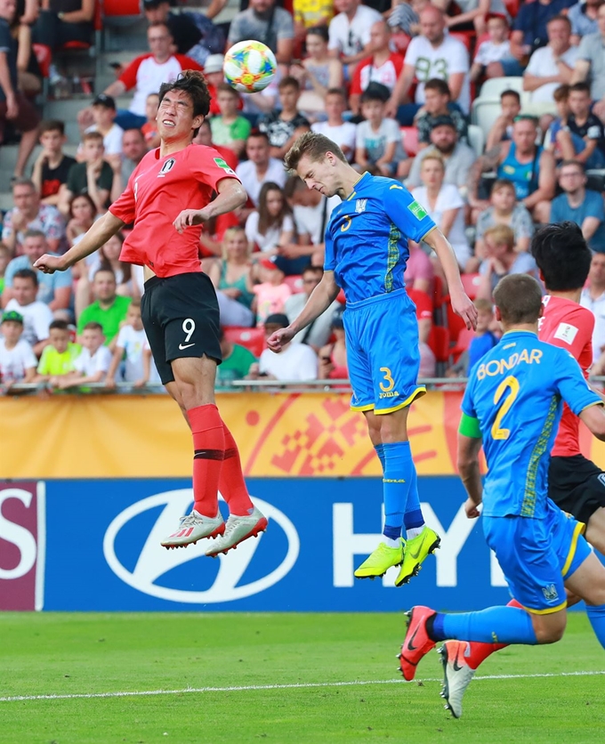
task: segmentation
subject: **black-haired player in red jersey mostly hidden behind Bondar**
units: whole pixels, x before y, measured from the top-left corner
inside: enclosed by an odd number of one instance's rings
[[[567,349],[586,378],[593,363],[593,313],[579,304],[592,254],[576,222],[561,222],[538,230],[531,251],[547,295],[543,300],[539,337]],[[548,495],[564,512],[586,525],[585,538],[605,554],[605,473],[580,453],[579,419],[567,405],[554,441],[548,470]],[[577,602],[568,597],[568,603]],[[520,607],[514,599],[510,604]],[[446,707],[459,718],[464,691],[477,667],[503,643],[447,641],[440,648],[444,667],[441,695]]]

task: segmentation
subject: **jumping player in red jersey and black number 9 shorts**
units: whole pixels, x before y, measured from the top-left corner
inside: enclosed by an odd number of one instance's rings
[[[125,192],[77,246],[62,256],[43,255],[36,267],[45,273],[65,271],[134,223],[120,259],[144,266],[143,326],[162,383],[189,422],[195,453],[193,511],[162,545],[185,547],[213,537],[206,555],[214,557],[255,537],[267,520],[250,501],[238,447],[214,402],[216,365],[222,360],[219,307],[212,282],[200,268],[199,236],[203,222],[243,206],[247,196],[216,150],[191,144],[209,106],[199,72],[186,70],[162,85],[159,148],[142,158]],[[211,201],[213,191],[217,197]],[[218,489],[229,505],[226,523]]]

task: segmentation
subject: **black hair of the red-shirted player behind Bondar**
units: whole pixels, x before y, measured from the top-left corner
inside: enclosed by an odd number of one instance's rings
[[[593,258],[576,222],[558,222],[537,230],[531,255],[542,271],[546,289],[567,292],[585,285]]]

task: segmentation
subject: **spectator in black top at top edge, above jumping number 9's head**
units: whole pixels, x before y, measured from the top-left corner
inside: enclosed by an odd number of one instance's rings
[[[224,4],[222,0],[215,1],[216,12],[219,12]],[[202,66],[206,65],[210,54],[221,52],[225,45],[222,29],[214,26],[211,20],[214,16],[200,12],[170,12],[168,0],[143,0],[143,11],[149,23],[161,21],[166,24],[173,36],[176,52],[187,54]]]

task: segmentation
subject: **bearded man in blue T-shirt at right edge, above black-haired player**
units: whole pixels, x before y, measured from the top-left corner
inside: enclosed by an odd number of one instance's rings
[[[605,253],[605,207],[598,191],[586,190],[585,167],[577,160],[564,160],[559,171],[564,191],[553,199],[551,222],[576,222],[593,251]]]

